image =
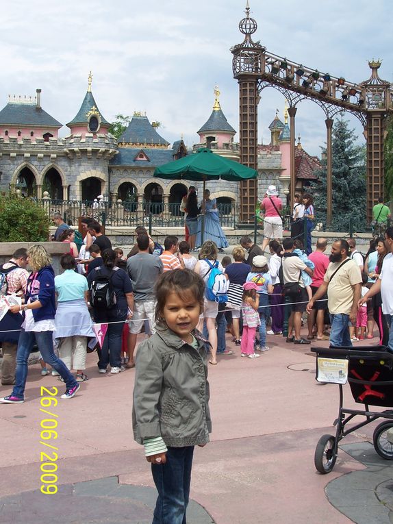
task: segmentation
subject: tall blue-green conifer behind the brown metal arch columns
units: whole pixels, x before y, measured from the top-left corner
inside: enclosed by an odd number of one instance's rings
[[[348,231],[349,219],[353,227],[364,231],[366,227],[366,151],[356,145],[354,129],[348,121],[339,118],[332,132],[332,223],[334,231]],[[321,170],[315,172],[319,182],[312,183],[316,222],[327,222],[327,159],[322,155]]]

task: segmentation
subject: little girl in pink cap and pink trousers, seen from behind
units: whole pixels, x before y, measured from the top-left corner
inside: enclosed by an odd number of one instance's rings
[[[258,353],[254,353],[254,338],[257,326],[259,326],[259,295],[257,293],[257,284],[254,282],[246,282],[243,285],[243,333],[242,343],[240,345],[242,350],[242,357],[257,358],[260,357]]]

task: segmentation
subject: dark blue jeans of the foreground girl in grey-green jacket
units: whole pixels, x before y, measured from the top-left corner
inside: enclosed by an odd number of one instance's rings
[[[194,446],[168,447],[166,464],[151,464],[158,491],[152,524],[186,524]]]

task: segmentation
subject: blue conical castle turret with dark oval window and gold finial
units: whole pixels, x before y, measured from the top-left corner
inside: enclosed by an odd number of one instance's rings
[[[85,136],[88,134],[107,134],[110,128],[110,123],[105,120],[103,115],[99,112],[96,101],[92,95],[92,73],[88,76],[88,90],[84,101],[81,104],[77,115],[68,122],[67,126],[71,129],[73,134],[81,134]]]

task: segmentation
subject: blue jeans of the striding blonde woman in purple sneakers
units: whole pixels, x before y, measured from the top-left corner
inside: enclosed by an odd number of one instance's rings
[[[27,379],[27,359],[35,343],[38,345],[38,349],[45,362],[51,364],[59,373],[60,377],[64,379],[66,389],[68,390],[77,386],[77,381],[68,371],[66,364],[64,364],[53,351],[53,332],[33,332],[22,329],[19,335],[18,350],[16,351],[15,386],[14,390],[12,390],[12,395],[18,397],[18,399],[24,398],[23,395],[25,393]]]

